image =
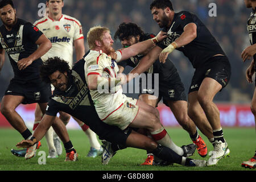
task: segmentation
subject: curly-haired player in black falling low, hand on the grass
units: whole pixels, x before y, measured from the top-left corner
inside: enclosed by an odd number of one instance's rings
[[[120,147],[134,147],[148,150],[170,163],[183,166],[205,166],[205,160],[195,160],[178,155],[171,148],[161,146],[151,138],[132,131],[129,127],[122,131],[117,126],[108,125],[101,121],[85,80],[84,65],[85,60],[81,59],[73,65],[71,70],[68,63],[59,57],[52,57],[44,62],[40,68],[40,75],[45,82],[51,82],[55,86],[55,90],[48,103],[46,114],[44,114],[32,138],[22,140],[17,144],[18,147],[30,147],[42,139],[56,118],[56,114],[59,111],[64,111],[85,122],[101,139],[109,141],[109,144],[104,146],[105,155],[102,156],[106,159],[110,159]],[[116,148],[112,148],[110,142]]]

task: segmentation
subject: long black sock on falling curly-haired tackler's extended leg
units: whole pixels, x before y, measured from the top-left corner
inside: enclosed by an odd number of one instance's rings
[[[171,148],[164,147],[158,145],[152,153],[157,156],[158,158],[162,160],[166,160],[167,162],[170,163],[177,163],[181,164],[182,162],[182,156],[177,154],[175,151],[171,150]]]

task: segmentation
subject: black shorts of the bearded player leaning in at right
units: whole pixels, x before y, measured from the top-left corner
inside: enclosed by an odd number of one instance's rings
[[[214,56],[210,58],[207,63],[201,65],[200,68],[196,68],[188,93],[199,90],[201,83],[206,77],[216,80],[219,84],[221,84],[223,89],[226,85],[228,85],[230,76],[231,66],[228,57]]]

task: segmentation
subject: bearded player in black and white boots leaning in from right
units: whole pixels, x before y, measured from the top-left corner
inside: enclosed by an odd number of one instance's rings
[[[169,53],[177,49],[184,53],[196,69],[188,93],[188,115],[212,142],[211,163],[228,156],[230,150],[223,137],[220,112],[214,96],[229,82],[231,67],[224,51],[195,14],[175,13],[170,0],[155,0],[150,5],[153,19],[168,36],[153,48],[136,67],[143,73],[155,60],[165,63]],[[133,77],[129,77],[129,80]],[[211,136],[211,137],[209,137]]]

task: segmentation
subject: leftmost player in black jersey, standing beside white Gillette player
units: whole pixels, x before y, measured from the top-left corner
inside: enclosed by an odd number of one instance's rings
[[[37,27],[17,18],[13,1],[0,2],[0,17],[3,23],[0,27],[0,71],[5,61],[5,52],[9,56],[14,71],[14,78],[10,81],[2,98],[1,113],[24,139],[28,139],[32,133],[15,109],[20,104],[39,103],[42,113],[45,113],[49,96],[51,96],[51,85],[40,79],[39,67],[43,64],[40,57],[52,45]],[[56,122],[55,125],[60,125],[59,129],[63,130],[61,133],[67,133],[61,121]],[[69,137],[65,139],[69,141]],[[68,147],[71,145],[70,143]],[[25,158],[32,158],[35,148],[39,146],[38,142],[33,147],[29,147]]]

